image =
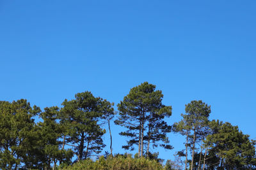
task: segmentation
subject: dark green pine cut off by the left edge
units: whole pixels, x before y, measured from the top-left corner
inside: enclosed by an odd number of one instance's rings
[[[26,164],[34,167],[37,164],[36,132],[33,116],[40,108],[30,104],[25,99],[12,103],[0,101],[0,168],[12,169]]]

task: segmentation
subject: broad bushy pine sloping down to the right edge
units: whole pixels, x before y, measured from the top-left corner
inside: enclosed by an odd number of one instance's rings
[[[255,169],[255,141],[230,123],[212,120],[211,134],[206,138],[209,147],[207,167],[217,169]]]

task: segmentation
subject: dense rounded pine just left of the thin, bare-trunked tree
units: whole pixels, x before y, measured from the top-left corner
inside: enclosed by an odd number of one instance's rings
[[[74,147],[77,160],[100,153],[105,146],[102,135],[106,132],[98,124],[102,117],[102,99],[91,92],[78,93],[76,99],[65,101],[61,108],[61,124],[65,127],[64,144]]]

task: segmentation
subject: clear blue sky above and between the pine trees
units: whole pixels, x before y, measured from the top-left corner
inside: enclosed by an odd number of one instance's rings
[[[45,108],[89,90],[117,104],[148,81],[173,107],[170,124],[202,99],[211,119],[256,138],[255,8],[234,0],[0,1],[0,100]],[[122,153],[118,132],[113,125],[113,152]],[[169,137],[174,150],[154,150],[163,159],[184,142]]]

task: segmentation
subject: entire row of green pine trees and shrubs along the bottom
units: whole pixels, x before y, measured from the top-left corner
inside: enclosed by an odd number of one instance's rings
[[[172,106],[165,106],[162,100],[161,90],[145,82],[130,90],[117,104],[118,111],[113,103],[91,92],[77,93],[74,99],[65,99],[61,108],[51,106],[44,111],[30,106],[26,99],[0,101],[0,168],[255,169],[255,141],[237,126],[210,121],[211,106],[191,101],[182,120],[170,125],[166,118],[172,115]],[[35,123],[36,117],[42,121]],[[120,135],[127,138],[127,145],[122,147],[137,148],[136,158],[113,156],[111,121],[125,127]],[[99,156],[106,146],[104,127],[110,136],[109,157],[93,162],[90,157]],[[172,149],[167,137],[170,132],[186,137],[185,149],[177,152],[177,161],[168,160],[162,166],[150,150],[157,146]]]

